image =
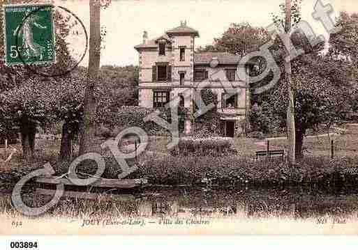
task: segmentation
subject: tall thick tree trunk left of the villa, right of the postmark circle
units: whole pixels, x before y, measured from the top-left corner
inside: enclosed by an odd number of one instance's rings
[[[100,66],[100,1],[89,1],[89,17],[89,67],[87,86],[84,93],[84,117],[81,130],[80,155],[91,152],[91,146],[94,143],[96,118],[94,90],[98,81]]]

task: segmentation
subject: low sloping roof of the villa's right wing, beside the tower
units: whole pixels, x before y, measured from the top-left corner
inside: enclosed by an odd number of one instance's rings
[[[219,64],[238,64],[241,60],[241,56],[228,52],[197,52],[194,54],[194,63],[210,64],[215,58]]]

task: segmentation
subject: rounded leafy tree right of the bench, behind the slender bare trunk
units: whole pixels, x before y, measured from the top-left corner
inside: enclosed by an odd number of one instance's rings
[[[318,125],[331,125],[344,120],[350,112],[352,92],[357,92],[357,73],[348,61],[322,56],[318,52],[305,54],[292,61],[294,90],[295,155],[303,157],[304,135]],[[281,81],[270,96],[274,111],[285,125],[284,102],[288,96]]]

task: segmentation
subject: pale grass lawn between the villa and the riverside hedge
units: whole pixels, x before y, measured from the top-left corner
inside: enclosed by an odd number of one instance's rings
[[[357,127],[358,128],[358,127]],[[168,153],[166,148],[167,143],[170,142],[170,138],[165,136],[151,136],[149,137],[149,144],[147,150],[154,153]],[[358,156],[358,133],[354,131],[348,131],[344,135],[331,136],[331,139],[335,143],[335,155],[340,157],[357,157]],[[96,138],[94,150],[104,156],[111,156],[108,148],[103,149],[100,145],[105,141],[102,138]],[[60,141],[59,140],[36,140],[36,153],[32,162],[23,162],[21,157],[20,144],[12,145],[17,148],[17,153],[10,161],[10,169],[16,166],[27,164],[27,166],[39,166],[50,162],[55,164],[57,162]],[[234,146],[238,151],[240,157],[255,157],[255,152],[258,150],[266,150],[267,141],[260,139],[251,139],[239,137],[234,139]],[[287,149],[287,139],[270,139],[271,149]],[[75,151],[78,150],[78,146],[75,146]],[[331,154],[331,144],[327,136],[308,136],[304,139],[304,154],[314,156],[327,156]],[[6,158],[6,154],[3,153],[3,148],[0,148],[0,157]],[[2,166],[2,169],[4,166]],[[1,166],[0,166],[1,169]]]

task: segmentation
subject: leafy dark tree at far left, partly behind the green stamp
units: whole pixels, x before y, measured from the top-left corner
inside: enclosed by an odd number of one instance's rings
[[[38,1],[7,1],[6,3],[37,3]],[[2,4],[3,2],[1,2]],[[2,13],[1,13],[2,14]],[[14,132],[17,127],[22,134],[22,150],[24,157],[29,159],[33,155],[35,146],[36,126],[48,123],[52,120],[50,109],[47,110],[47,104],[53,96],[42,95],[45,83],[49,79],[40,77],[36,71],[47,73],[58,73],[66,68],[72,58],[68,53],[66,36],[68,35],[68,23],[62,22],[64,16],[58,10],[54,13],[54,24],[57,26],[55,36],[57,40],[57,63],[50,66],[29,66],[17,65],[6,67],[3,60],[3,33],[0,31],[0,75],[1,75],[1,92],[0,104],[0,135]],[[2,18],[0,17],[1,22]],[[66,20],[68,21],[68,20]],[[44,70],[44,71],[43,71]],[[66,76],[65,76],[66,77]],[[59,77],[61,78],[61,77]],[[31,87],[31,88],[29,88]],[[27,94],[27,92],[29,92]],[[20,97],[20,99],[19,99]],[[38,97],[38,99],[36,99]],[[43,99],[41,99],[43,97]],[[13,98],[13,99],[11,99]],[[45,106],[44,106],[45,105]],[[44,108],[46,107],[46,108]],[[45,112],[44,112],[45,110]],[[46,117],[47,116],[47,117]]]

